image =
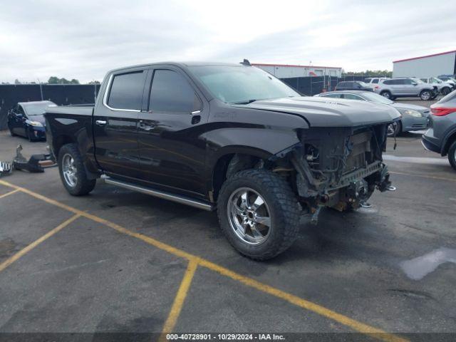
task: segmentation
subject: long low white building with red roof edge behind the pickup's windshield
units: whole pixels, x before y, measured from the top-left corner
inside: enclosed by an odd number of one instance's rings
[[[276,78],[293,78],[306,76],[341,77],[342,68],[333,66],[294,66],[289,64],[252,63],[252,66],[261,68]]]

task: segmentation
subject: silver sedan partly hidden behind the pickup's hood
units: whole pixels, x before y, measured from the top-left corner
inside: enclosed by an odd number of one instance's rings
[[[388,126],[388,137],[393,137],[403,132],[413,130],[425,130],[427,120],[430,115],[429,108],[421,105],[410,105],[408,103],[397,103],[381,95],[371,93],[370,91],[360,90],[342,90],[321,93],[315,96],[323,98],[345,98],[348,100],[370,101],[373,103],[383,103],[397,109],[402,115],[399,121],[395,121]]]

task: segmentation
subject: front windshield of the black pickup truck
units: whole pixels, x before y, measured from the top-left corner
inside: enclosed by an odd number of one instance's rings
[[[252,66],[192,66],[190,71],[224,103],[301,96],[266,71]]]

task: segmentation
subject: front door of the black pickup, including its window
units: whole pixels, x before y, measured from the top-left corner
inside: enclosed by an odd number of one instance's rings
[[[205,142],[198,137],[209,105],[179,69],[155,69],[147,109],[140,113],[138,142],[143,177],[167,190],[204,194]]]

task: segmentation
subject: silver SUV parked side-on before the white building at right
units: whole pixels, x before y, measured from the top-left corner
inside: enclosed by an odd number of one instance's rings
[[[395,98],[419,96],[421,100],[432,100],[438,95],[437,86],[431,86],[423,81],[413,78],[390,78],[380,81],[378,86],[373,88],[385,98],[394,100]]]

